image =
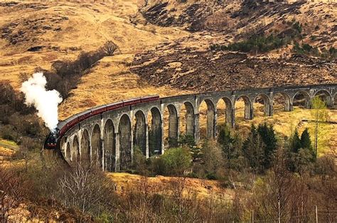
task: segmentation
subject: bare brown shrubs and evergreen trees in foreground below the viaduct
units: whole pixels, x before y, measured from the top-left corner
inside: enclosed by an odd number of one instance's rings
[[[313,115],[322,116],[321,108],[313,107]],[[28,149],[25,165],[0,166],[0,218],[18,217],[17,208],[25,204],[28,219],[46,221],[248,222],[254,213],[256,221],[313,222],[317,205],[320,220],[333,222],[336,163],[331,155],[319,156],[314,141],[307,129],[286,138],[267,123],[252,125],[247,138],[223,126],[216,141],[198,145],[193,136],[181,135],[178,147],[161,156],[146,159],[135,149],[127,171],[142,177],[122,192],[95,165],[78,162],[70,168],[52,154],[41,159]],[[149,182],[156,175],[174,177],[163,187]],[[232,199],[216,197],[211,189],[199,197],[188,177],[218,180]]]

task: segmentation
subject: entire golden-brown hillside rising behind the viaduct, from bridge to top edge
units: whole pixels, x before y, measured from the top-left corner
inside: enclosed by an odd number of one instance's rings
[[[112,40],[118,55],[103,58],[81,78],[60,105],[60,119],[140,95],[335,83],[335,61],[291,56],[291,46],[257,56],[210,51],[252,33],[289,33],[295,21],[303,29],[301,43],[319,51],[336,48],[333,3],[0,1],[0,81],[18,89],[37,68],[51,70],[56,61],[74,60]]]

